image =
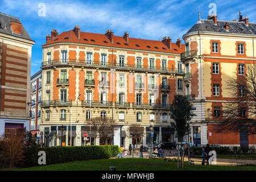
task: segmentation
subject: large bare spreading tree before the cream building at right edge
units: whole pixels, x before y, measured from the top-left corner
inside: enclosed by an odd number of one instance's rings
[[[220,125],[217,132],[237,132],[247,126],[248,133],[256,133],[256,65],[246,64],[245,70],[233,73],[226,88],[230,100],[222,105]]]

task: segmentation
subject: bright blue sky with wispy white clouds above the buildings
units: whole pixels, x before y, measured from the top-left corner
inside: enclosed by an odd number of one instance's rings
[[[39,3],[46,5],[46,16],[39,16]],[[133,38],[162,40],[171,36],[172,42],[182,39],[198,20],[207,19],[211,7],[216,4],[218,20],[238,19],[238,10],[256,23],[256,1],[13,1],[0,0],[0,12],[20,19],[28,34],[35,40],[32,47],[31,75],[40,70],[41,46],[46,35],[56,29],[59,34],[79,25],[81,31],[105,34],[108,29],[114,35],[123,36],[128,31]]]

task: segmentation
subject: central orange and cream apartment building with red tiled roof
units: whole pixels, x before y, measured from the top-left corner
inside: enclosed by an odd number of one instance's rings
[[[150,125],[154,143],[174,142],[170,104],[175,94],[184,94],[180,39],[144,40],[110,30],[94,34],[75,26],[61,34],[52,30],[42,48],[40,131],[47,146],[85,145],[86,119],[112,115],[120,127],[114,144],[129,147],[131,123],[144,128],[143,144],[150,141]],[[91,134],[90,144],[101,142]]]

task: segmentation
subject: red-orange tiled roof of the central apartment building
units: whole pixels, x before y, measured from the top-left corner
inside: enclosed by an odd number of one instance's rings
[[[139,49],[139,50],[145,50],[145,51],[157,51],[157,52],[167,52],[167,53],[182,53],[185,50],[184,44],[181,44],[181,48],[179,48],[177,47],[176,43],[172,43],[172,49],[170,50],[161,41],[129,38],[129,42],[127,43],[122,36],[115,36],[115,35],[114,35],[114,43],[111,43],[105,34],[94,34],[89,32],[81,32],[81,39],[77,39],[77,36],[72,30],[61,33],[56,38],[53,38],[53,40],[50,40],[43,46],[47,46],[49,44],[54,44],[54,43],[60,43],[60,42],[84,43],[84,44],[92,44],[97,46],[129,48],[129,49]],[[135,46],[136,44],[139,45],[139,47]],[[147,46],[150,46],[150,47],[147,47]]]

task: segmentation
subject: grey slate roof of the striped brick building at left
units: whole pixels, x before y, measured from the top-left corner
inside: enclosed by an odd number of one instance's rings
[[[18,34],[13,34],[11,31],[11,22],[18,22],[21,23],[19,18],[16,18],[11,15],[0,13],[0,33],[13,35],[19,38],[31,40],[30,36],[28,35],[26,29],[22,25],[22,33],[21,36]]]

